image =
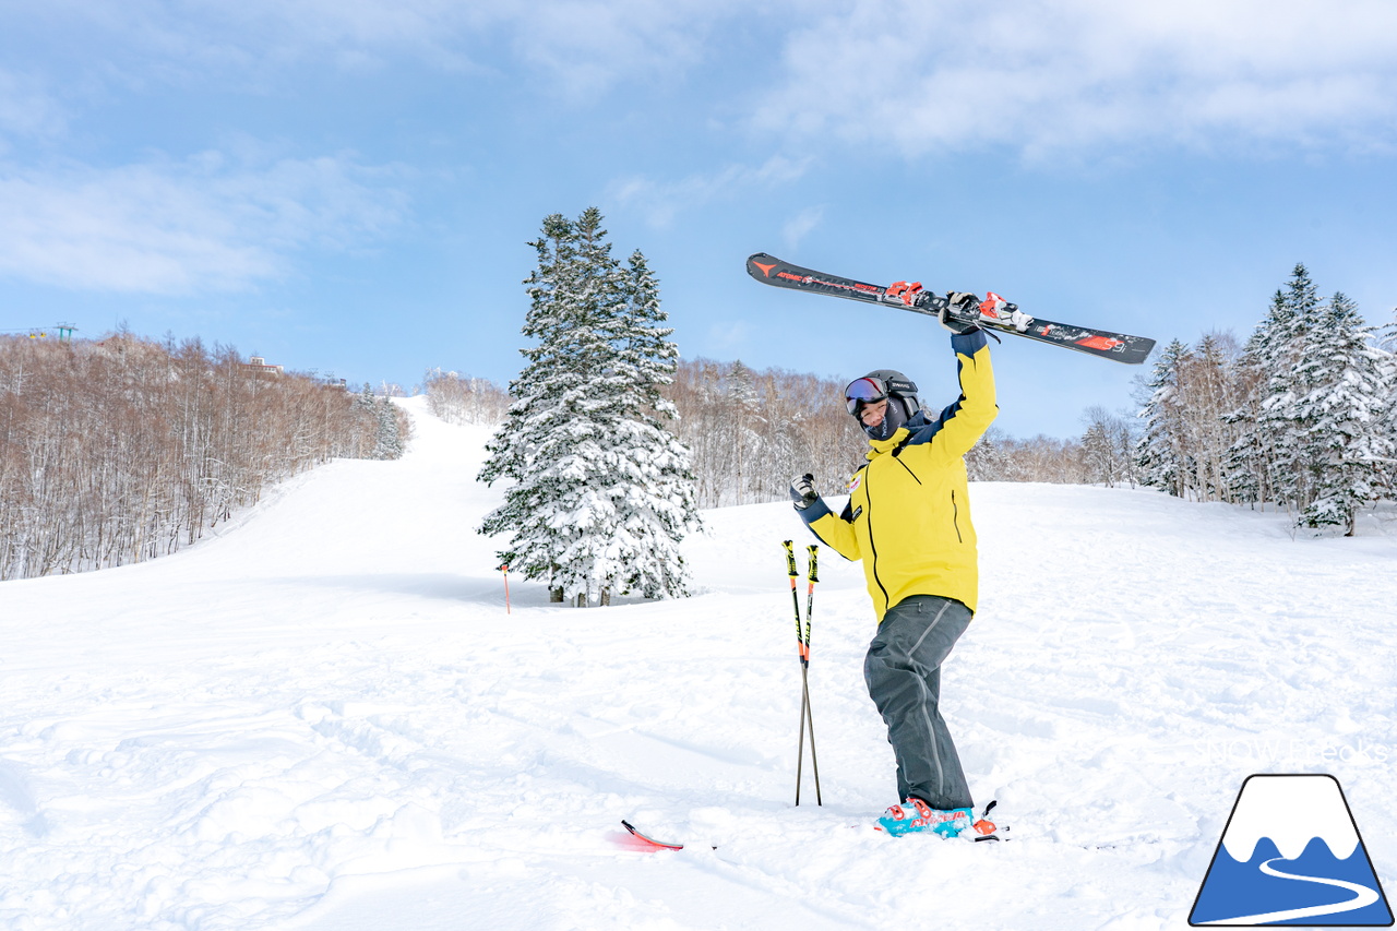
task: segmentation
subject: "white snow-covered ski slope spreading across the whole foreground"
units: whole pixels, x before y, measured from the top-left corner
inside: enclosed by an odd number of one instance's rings
[[[511,579],[506,614],[474,531],[489,431],[404,407],[398,461],[298,477],[175,556],[0,584],[0,927],[1183,928],[1263,772],[1337,777],[1397,889],[1390,510],[1315,538],[972,485],[981,605],[943,710],[1013,842],[893,839],[858,565],[820,551],[824,804],[806,759],[796,808],[791,506],[705,512],[693,598]]]

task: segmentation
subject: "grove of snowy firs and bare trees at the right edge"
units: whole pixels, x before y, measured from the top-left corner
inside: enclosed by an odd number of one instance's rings
[[[1275,503],[1298,526],[1352,531],[1359,507],[1391,496],[1397,356],[1375,345],[1352,301],[1327,303],[1303,264],[1275,292],[1245,349],[1229,334],[1165,347],[1141,382],[1144,484],[1199,500]],[[1101,479],[1105,431],[1083,440]]]

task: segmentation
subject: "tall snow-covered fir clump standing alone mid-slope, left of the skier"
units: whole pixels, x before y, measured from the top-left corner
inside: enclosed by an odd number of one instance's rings
[[[658,288],[641,256],[612,257],[601,224],[597,208],[553,214],[531,243],[522,333],[536,342],[479,475],[514,482],[481,526],[511,535],[500,559],[578,604],[685,594],[678,542],[697,526],[687,450],[664,425],[678,351]]]

